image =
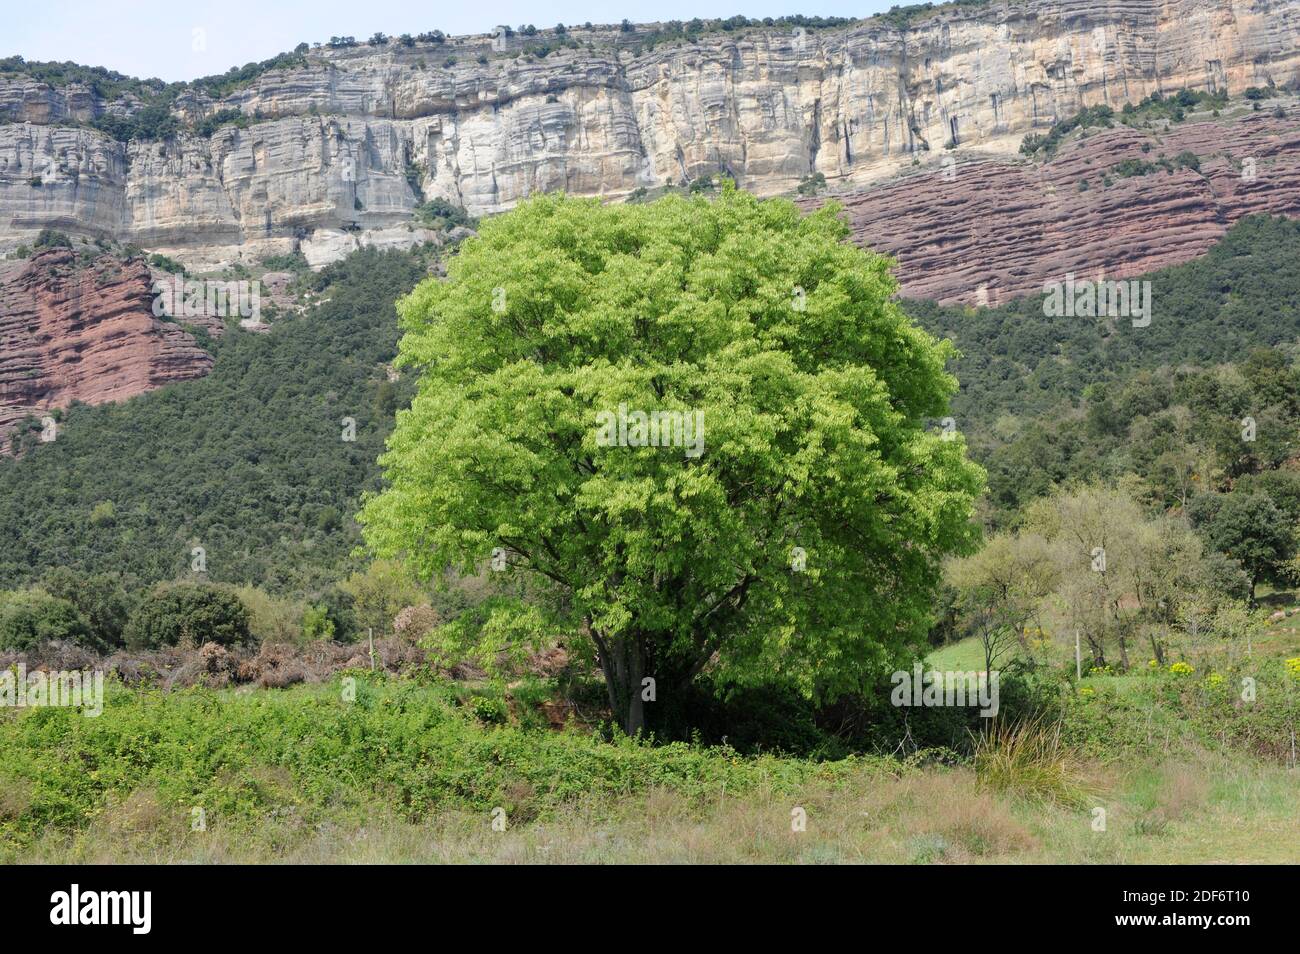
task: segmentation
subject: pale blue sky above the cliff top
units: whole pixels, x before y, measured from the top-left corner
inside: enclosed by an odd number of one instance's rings
[[[612,23],[693,17],[868,17],[911,0],[480,0],[443,8],[413,0],[5,0],[0,57],[72,60],[169,82],[225,73],[299,43],[364,40],[442,30],[489,32],[498,23]]]

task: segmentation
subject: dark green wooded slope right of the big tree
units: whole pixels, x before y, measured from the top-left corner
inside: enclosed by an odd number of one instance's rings
[[[1278,468],[1300,446],[1300,225],[1239,221],[1201,259],[1147,276],[1152,321],[909,303],[961,350],[953,416],[989,472],[994,524],[1071,477],[1138,473],[1165,506]],[[1067,357],[1067,360],[1065,360]],[[1238,369],[1206,365],[1239,363]],[[1257,421],[1254,442],[1243,419]]]

